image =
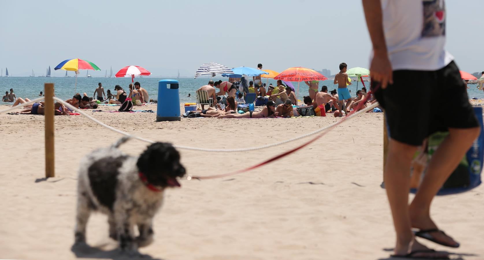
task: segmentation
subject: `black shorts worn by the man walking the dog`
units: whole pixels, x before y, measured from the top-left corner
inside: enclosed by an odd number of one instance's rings
[[[437,71],[393,71],[393,84],[381,89],[371,82],[385,109],[388,135],[399,142],[421,145],[429,135],[449,128],[478,127],[467,88],[454,61]]]

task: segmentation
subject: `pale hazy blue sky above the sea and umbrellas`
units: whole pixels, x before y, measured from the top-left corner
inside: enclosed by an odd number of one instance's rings
[[[136,3],[133,5],[133,3]],[[484,15],[478,0],[449,0],[447,50],[462,70],[484,71]],[[262,63],[333,73],[340,62],[368,67],[361,0],[1,1],[0,67],[45,73],[68,58],[116,73],[140,65],[153,76],[193,76],[199,65]],[[54,76],[63,76],[63,71]]]

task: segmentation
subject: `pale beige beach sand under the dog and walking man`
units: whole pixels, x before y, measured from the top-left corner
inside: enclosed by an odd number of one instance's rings
[[[0,106],[0,110],[7,106]],[[116,110],[118,107],[100,107]],[[147,109],[156,110],[156,105]],[[135,108],[136,109],[136,108]],[[152,113],[91,112],[96,119],[151,140],[204,148],[245,148],[302,135],[340,120],[195,118],[154,122]],[[166,191],[154,242],[140,249],[163,260],[387,259],[394,231],[382,182],[382,113],[344,122],[308,147],[272,164],[213,180],[181,180]],[[44,117],[0,114],[0,259],[120,259],[106,216],[93,214],[87,241],[71,251],[79,160],[121,135],[83,116],[55,117],[56,177],[44,179]],[[308,140],[304,138],[303,140]],[[190,175],[232,172],[302,140],[250,152],[180,150]],[[121,146],[139,154],[147,146]],[[432,216],[461,248],[433,248],[484,259],[484,186],[438,197]],[[458,255],[454,255],[457,257]],[[149,258],[147,258],[149,259]]]

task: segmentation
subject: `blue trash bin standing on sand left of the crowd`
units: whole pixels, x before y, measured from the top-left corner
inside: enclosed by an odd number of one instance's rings
[[[163,79],[158,81],[158,108],[156,122],[181,121],[180,93],[178,80]]]

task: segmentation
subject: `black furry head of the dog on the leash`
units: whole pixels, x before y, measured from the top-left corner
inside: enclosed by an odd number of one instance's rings
[[[168,179],[185,174],[180,153],[169,143],[157,142],[148,146],[139,156],[136,166],[153,185],[166,186]]]

